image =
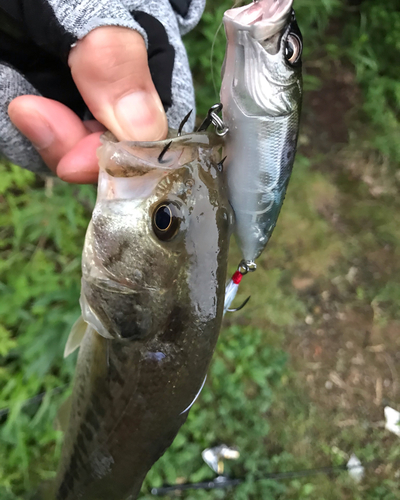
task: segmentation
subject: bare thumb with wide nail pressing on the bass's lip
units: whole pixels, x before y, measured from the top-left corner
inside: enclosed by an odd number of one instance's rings
[[[139,33],[119,26],[97,28],[77,42],[68,63],[93,116],[119,140],[166,137],[167,117]]]

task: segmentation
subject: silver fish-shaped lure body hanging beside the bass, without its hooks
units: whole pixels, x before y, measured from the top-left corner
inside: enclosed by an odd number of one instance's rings
[[[243,258],[254,261],[275,227],[292,172],[302,100],[302,37],[293,0],[225,12],[221,102],[226,182]]]

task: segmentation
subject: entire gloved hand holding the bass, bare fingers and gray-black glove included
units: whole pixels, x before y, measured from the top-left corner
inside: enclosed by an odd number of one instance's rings
[[[166,116],[178,128],[194,109],[181,34],[204,4],[0,0],[0,153],[33,172],[95,182],[106,128],[120,140],[162,139]]]

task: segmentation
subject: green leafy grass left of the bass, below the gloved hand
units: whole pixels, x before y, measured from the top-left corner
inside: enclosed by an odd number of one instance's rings
[[[18,494],[54,470],[60,396],[21,405],[71,380],[74,360],[63,360],[63,345],[79,315],[80,253],[95,191],[56,182],[46,193],[33,174],[0,169],[0,408],[11,408],[0,427],[0,491]]]

